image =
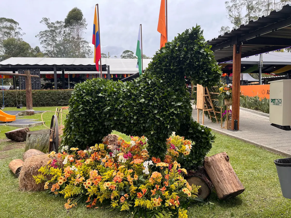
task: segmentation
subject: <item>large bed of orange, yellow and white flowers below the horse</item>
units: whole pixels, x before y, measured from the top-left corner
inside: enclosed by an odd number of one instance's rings
[[[179,162],[189,155],[192,142],[173,132],[162,162],[149,156],[146,137],[131,139],[119,137],[115,146],[105,141],[84,151],[65,146],[61,153],[51,152],[50,157],[63,159],[64,167],[49,161],[34,176],[36,183],[45,182],[48,192],[68,199],[67,210],[86,202],[88,208],[127,210],[131,217],[187,218],[186,208],[198,201],[199,186],[189,185]]]

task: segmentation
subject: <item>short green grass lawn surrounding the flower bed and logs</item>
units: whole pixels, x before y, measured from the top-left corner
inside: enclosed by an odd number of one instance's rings
[[[30,117],[36,116],[40,115]],[[45,118],[48,124],[50,117],[51,115]],[[0,138],[3,139],[3,127],[0,129]],[[129,137],[124,134],[116,131],[113,133],[129,140]],[[291,199],[282,196],[273,162],[282,157],[225,135],[216,134],[216,136],[208,156],[226,151],[233,169],[246,190],[227,201],[219,201],[213,192],[209,201],[214,203],[214,207],[193,204],[188,209],[188,217],[291,217]],[[23,152],[24,143],[0,140],[0,217],[127,217],[127,213],[109,212],[102,208],[87,209],[83,205],[67,213],[63,207],[65,200],[61,197],[56,198],[45,192],[20,191],[18,180],[9,170],[8,164],[13,159],[22,158]]]

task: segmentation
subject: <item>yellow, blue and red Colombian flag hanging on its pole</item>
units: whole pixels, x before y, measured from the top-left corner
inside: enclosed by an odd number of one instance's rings
[[[97,20],[97,6],[95,6],[94,22],[93,22],[93,39],[94,45],[94,63],[96,64],[96,70],[99,71],[99,60],[101,58],[101,49],[99,41],[98,20]]]

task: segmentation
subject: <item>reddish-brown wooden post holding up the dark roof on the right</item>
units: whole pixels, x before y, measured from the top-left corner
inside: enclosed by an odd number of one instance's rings
[[[241,67],[242,45],[233,45],[233,102],[231,114],[231,129],[239,130],[239,97],[240,97],[240,67]],[[235,121],[237,120],[237,129]]]

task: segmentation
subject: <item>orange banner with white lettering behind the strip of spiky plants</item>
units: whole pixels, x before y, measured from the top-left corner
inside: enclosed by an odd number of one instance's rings
[[[270,98],[270,85],[241,85],[240,91],[242,95],[260,96],[261,98]]]

